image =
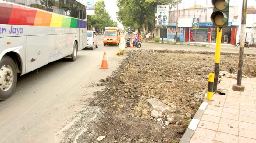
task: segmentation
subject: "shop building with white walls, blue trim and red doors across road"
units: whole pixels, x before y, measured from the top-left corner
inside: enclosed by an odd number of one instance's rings
[[[233,44],[239,40],[242,3],[240,0],[231,0],[233,5],[229,6],[229,25],[222,29],[222,43]],[[241,3],[241,4],[240,4]],[[211,21],[211,14],[213,7],[204,7],[201,5],[194,5],[186,9],[172,9],[169,11],[168,25],[155,25],[155,35],[160,36],[163,40],[172,41],[176,38],[176,24],[182,19],[199,18],[199,29],[192,29],[191,27],[178,27],[178,37],[180,41],[196,41],[215,43],[217,36],[217,28],[213,27]],[[255,7],[248,7],[247,11],[247,38],[250,37],[251,44],[256,45],[256,12]],[[178,17],[178,18],[177,18]]]

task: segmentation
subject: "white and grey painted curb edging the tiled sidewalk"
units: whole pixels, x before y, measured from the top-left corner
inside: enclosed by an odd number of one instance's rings
[[[204,111],[209,103],[209,100],[206,99],[206,93],[204,93],[204,102],[200,105],[199,109],[197,110],[194,118],[190,121],[190,124],[187,127],[187,130],[183,134],[182,138],[180,139],[180,143],[189,143],[194,131],[196,130],[200,119],[202,118]]]

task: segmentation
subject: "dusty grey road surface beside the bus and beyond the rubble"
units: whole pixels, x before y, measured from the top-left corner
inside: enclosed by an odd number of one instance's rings
[[[116,56],[118,47],[103,47],[102,36],[99,36],[99,43],[99,48],[79,51],[75,62],[59,60],[18,78],[15,93],[0,102],[0,143],[61,142],[59,131],[73,124],[74,117],[87,104],[93,91],[100,90],[90,85],[111,75],[124,59]],[[215,51],[214,47],[145,42],[140,49]],[[255,54],[255,49],[245,49],[245,53]],[[108,70],[99,69],[104,51]],[[235,53],[239,49],[224,47],[222,52]]]

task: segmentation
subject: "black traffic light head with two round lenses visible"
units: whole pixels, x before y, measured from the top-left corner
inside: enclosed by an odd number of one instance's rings
[[[227,27],[229,25],[229,0],[212,0],[212,5],[213,27]]]

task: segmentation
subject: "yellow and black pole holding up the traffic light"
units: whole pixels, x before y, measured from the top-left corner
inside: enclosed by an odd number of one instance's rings
[[[222,27],[217,27],[217,38],[216,38],[216,52],[215,52],[215,65],[214,65],[214,83],[213,92],[217,92],[218,79],[219,79],[219,62],[220,62],[220,47],[221,47],[221,36]]]

